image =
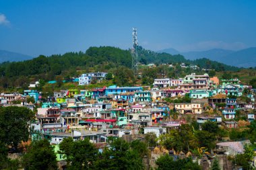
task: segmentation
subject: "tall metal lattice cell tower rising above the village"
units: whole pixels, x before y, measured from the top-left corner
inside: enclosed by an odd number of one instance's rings
[[[137,75],[138,73],[138,53],[137,53],[137,28],[133,28],[133,48],[131,49],[131,56],[132,56],[132,69],[134,74]]]

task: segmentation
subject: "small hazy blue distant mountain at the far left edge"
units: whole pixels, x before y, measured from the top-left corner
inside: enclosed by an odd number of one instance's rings
[[[32,56],[20,54],[18,52],[9,52],[6,50],[0,50],[0,62],[30,60],[32,58],[33,58]]]

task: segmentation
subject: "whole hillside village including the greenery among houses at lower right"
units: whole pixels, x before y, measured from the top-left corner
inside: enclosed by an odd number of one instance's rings
[[[103,153],[112,146],[111,140],[139,140],[148,150],[141,157],[141,169],[164,169],[161,160],[168,161],[166,155],[171,161],[190,160],[198,169],[211,169],[214,161],[220,169],[255,168],[253,156],[245,157],[248,165],[234,163],[238,155],[254,152],[256,89],[251,85],[235,77],[210,77],[205,72],[178,79],[156,77],[148,86],[81,89],[106,76],[108,73],[84,73],[75,79],[79,89],[54,91],[46,100],[36,90],[40,81],[30,83],[24,93],[1,93],[4,107],[25,107],[34,112],[28,126],[30,140],[22,146],[48,140],[59,169],[72,165],[67,153],[61,151],[61,142],[67,138],[88,140]]]

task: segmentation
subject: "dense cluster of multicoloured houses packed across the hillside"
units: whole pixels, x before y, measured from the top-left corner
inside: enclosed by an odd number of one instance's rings
[[[79,85],[87,85],[92,78],[103,79],[106,73],[88,73],[79,77]],[[220,84],[220,82],[222,84]],[[238,79],[221,80],[204,75],[187,75],[180,79],[155,79],[154,87],[109,87],[92,90],[67,89],[55,91],[48,102],[41,101],[41,107],[36,110],[36,120],[30,123],[32,140],[47,138],[51,144],[58,144],[63,138],[73,140],[90,138],[96,144],[105,143],[108,136],[121,137],[154,132],[156,136],[166,133],[168,128],[179,128],[186,124],[183,118],[171,118],[170,113],[179,116],[191,114],[197,122],[217,122],[226,128],[236,128],[236,110],[254,109],[254,96],[247,97],[251,103],[243,103],[228,95],[239,97],[243,89],[251,90],[251,86],[241,84]],[[171,103],[166,97],[191,98],[190,103]],[[35,103],[40,103],[41,94],[36,90],[25,90],[20,93],[1,93],[1,105],[14,105],[13,101],[23,101],[18,104],[30,109],[34,105],[26,103],[26,97],[34,97]],[[16,104],[17,105],[17,104]],[[205,116],[212,108],[222,115]],[[256,114],[249,113],[248,120],[255,120]],[[61,155],[58,156],[59,160]]]

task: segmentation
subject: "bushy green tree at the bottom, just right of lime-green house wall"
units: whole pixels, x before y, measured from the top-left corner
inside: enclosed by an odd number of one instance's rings
[[[73,141],[65,138],[59,146],[61,153],[67,157],[67,169],[92,169],[98,150],[88,138]]]

